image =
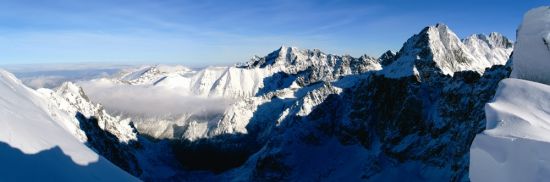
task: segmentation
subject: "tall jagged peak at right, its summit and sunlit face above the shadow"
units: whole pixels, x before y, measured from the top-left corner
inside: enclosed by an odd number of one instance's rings
[[[510,41],[498,33],[461,41],[446,25],[437,24],[407,40],[381,74],[392,78],[416,75],[420,79],[429,79],[435,72],[450,76],[458,71],[483,74],[486,68],[506,64],[511,52]]]

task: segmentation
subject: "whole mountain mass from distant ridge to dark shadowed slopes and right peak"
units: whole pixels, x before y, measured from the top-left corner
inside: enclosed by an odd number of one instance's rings
[[[511,50],[500,34],[460,40],[438,24],[378,59],[281,47],[234,67],[154,66],[109,81],[236,98],[208,122],[137,127],[176,134],[160,138],[184,168],[223,172],[193,179],[462,181]]]

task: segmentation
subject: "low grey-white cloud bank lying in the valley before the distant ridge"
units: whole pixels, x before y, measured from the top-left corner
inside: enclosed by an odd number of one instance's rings
[[[115,114],[138,117],[179,117],[222,114],[232,103],[224,98],[204,98],[154,86],[121,85],[99,79],[79,82],[88,97]]]

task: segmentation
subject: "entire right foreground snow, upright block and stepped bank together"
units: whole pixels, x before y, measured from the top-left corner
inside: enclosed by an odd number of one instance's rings
[[[470,148],[473,181],[546,181],[550,177],[550,7],[526,13],[513,72],[485,106],[486,130]]]

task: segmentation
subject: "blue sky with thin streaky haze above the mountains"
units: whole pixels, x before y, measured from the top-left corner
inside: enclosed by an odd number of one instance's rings
[[[0,0],[0,65],[223,65],[281,45],[378,56],[427,25],[515,39],[547,1]]]

